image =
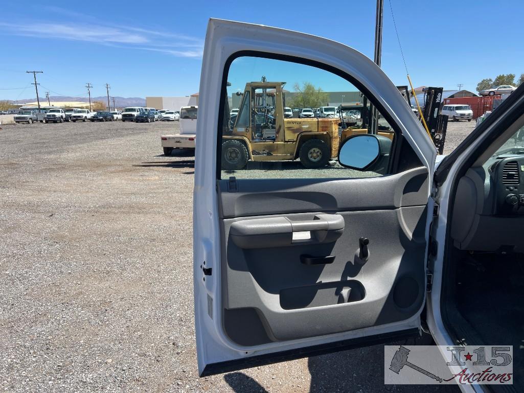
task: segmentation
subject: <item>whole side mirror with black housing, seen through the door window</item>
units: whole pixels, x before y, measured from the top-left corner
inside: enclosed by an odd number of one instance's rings
[[[391,139],[385,136],[353,135],[343,141],[339,149],[339,163],[346,168],[382,172],[387,169],[390,150]]]

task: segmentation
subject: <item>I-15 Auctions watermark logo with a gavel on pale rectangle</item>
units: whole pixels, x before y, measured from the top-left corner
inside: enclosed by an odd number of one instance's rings
[[[513,384],[511,345],[386,345],[384,383]]]

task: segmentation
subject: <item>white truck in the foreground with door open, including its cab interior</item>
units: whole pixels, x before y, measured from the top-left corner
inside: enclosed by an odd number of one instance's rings
[[[252,105],[282,113],[269,89],[246,90],[233,134],[223,126],[233,94],[227,81],[248,82],[260,63],[275,81],[319,75],[313,84],[333,80],[339,91],[362,93],[391,133],[368,122],[341,141],[336,166],[322,172],[283,165],[272,153],[293,154],[302,133],[294,119],[261,125],[276,130],[271,139],[245,137],[260,128]],[[524,84],[437,157],[395,84],[361,52],[297,31],[211,19],[199,93],[193,285],[200,376],[426,332],[442,355],[439,383],[471,393],[524,391]],[[301,124],[315,121],[329,119]],[[273,162],[221,170],[231,140]],[[394,366],[395,355],[384,376],[406,359]],[[431,383],[434,375],[422,374],[417,383]],[[493,383],[483,385],[486,378]],[[512,385],[501,385],[508,379]]]

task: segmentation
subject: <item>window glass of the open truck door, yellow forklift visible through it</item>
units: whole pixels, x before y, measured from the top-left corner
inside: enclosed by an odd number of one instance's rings
[[[217,153],[222,179],[362,178],[388,173],[394,129],[368,97],[339,75],[300,63],[240,57],[224,78],[228,104],[223,124],[228,127],[218,131],[222,143]],[[341,104],[345,110],[337,111]],[[284,116],[287,106],[293,108],[292,117]],[[315,117],[317,108],[331,116]],[[380,155],[367,171],[345,168],[337,161],[341,144],[358,134],[381,140]]]

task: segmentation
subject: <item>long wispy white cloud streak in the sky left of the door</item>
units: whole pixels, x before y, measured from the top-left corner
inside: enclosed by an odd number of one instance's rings
[[[122,48],[156,51],[177,57],[200,58],[203,50],[201,39],[134,26],[24,21],[23,23],[0,22],[0,30],[16,36],[118,45]]]

